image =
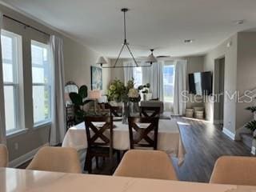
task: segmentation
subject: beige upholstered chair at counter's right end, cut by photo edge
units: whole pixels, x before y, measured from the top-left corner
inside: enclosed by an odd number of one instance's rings
[[[223,156],[218,158],[210,183],[256,186],[256,158]]]

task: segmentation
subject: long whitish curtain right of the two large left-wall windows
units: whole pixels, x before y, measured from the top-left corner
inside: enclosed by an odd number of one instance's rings
[[[66,133],[66,114],[64,102],[64,58],[63,41],[55,35],[50,36],[50,53],[53,72],[52,86],[52,126],[50,130],[50,145],[63,141]]]

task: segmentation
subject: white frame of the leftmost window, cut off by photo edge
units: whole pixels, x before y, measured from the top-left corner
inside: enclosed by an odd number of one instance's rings
[[[20,90],[19,90],[19,83],[20,83],[20,77],[19,77],[19,65],[20,62],[19,57],[20,54],[22,54],[22,50],[19,49],[19,47],[22,47],[22,37],[19,34],[15,34],[11,31],[8,30],[1,30],[1,36],[5,36],[7,38],[12,39],[12,58],[9,61],[9,59],[2,58],[2,75],[4,73],[3,70],[3,65],[4,63],[6,64],[11,64],[12,65],[12,72],[13,72],[13,82],[5,82],[4,78],[2,78],[3,81],[3,89],[7,86],[12,86],[14,90],[14,128],[13,129],[7,129],[6,126],[6,136],[10,136],[12,134],[17,134],[21,131],[26,130],[25,128],[22,127],[22,119],[21,119],[21,106],[19,105],[22,97],[20,95]],[[21,53],[19,53],[21,52]],[[22,60],[22,59],[21,59]],[[2,76],[4,77],[4,76]],[[5,97],[5,96],[4,96]],[[6,105],[6,104],[4,104]]]

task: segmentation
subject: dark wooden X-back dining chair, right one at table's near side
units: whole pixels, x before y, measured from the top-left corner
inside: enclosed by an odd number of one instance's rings
[[[159,118],[129,117],[130,149],[153,148],[158,149]],[[153,134],[150,135],[150,134]]]

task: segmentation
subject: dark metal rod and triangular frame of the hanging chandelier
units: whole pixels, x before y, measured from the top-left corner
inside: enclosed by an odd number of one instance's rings
[[[134,58],[134,54],[131,52],[130,50],[130,46],[129,46],[129,43],[127,42],[127,39],[126,39],[126,12],[128,11],[129,9],[127,8],[122,8],[122,12],[123,12],[123,26],[124,26],[124,41],[123,41],[123,44],[122,44],[122,48],[121,50],[119,51],[119,54],[118,54],[118,58],[116,58],[115,62],[114,62],[114,66],[102,66],[102,68],[126,68],[126,67],[147,67],[147,66],[138,66],[138,62],[136,61],[136,59]],[[122,51],[124,48],[127,48],[127,50],[129,51],[130,53],[130,56],[131,58],[133,59],[134,61],[134,64],[135,66],[117,66],[118,64],[118,60],[122,54]],[[150,65],[151,66],[151,65]]]

